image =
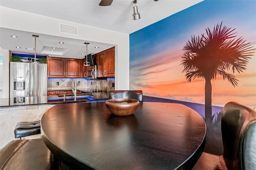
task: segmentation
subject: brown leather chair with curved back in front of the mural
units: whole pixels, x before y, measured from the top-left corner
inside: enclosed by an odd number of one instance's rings
[[[256,170],[256,111],[229,102],[222,109],[223,155],[203,152],[193,170]]]

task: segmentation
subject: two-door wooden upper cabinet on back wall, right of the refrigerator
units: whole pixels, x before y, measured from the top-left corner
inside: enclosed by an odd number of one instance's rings
[[[48,58],[48,77],[80,77],[81,59]]]

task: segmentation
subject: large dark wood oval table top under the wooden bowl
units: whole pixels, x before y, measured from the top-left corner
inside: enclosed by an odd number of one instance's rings
[[[205,144],[206,125],[176,103],[140,103],[115,116],[104,102],[56,105],[41,119],[46,146],[74,169],[191,169]]]

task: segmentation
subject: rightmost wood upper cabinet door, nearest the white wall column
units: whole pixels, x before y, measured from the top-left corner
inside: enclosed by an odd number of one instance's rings
[[[105,76],[115,77],[115,47],[105,51]]]

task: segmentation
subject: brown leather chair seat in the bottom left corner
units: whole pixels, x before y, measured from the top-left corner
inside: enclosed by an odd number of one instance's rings
[[[60,167],[60,161],[54,160],[42,138],[12,140],[0,150],[0,170],[56,170]]]

